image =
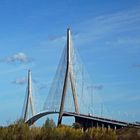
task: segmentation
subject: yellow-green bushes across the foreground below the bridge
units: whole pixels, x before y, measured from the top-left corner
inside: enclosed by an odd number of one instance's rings
[[[49,119],[42,127],[29,127],[19,120],[7,127],[0,127],[0,140],[123,140],[121,133],[117,131],[116,134],[114,130],[106,128],[90,128],[84,132],[77,123],[71,127],[56,127],[53,120]]]

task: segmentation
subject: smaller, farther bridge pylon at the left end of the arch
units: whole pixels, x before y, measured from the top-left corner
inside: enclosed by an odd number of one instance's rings
[[[31,109],[31,110],[29,110]],[[31,70],[28,70],[28,85],[27,85],[27,97],[25,99],[25,109],[23,112],[23,119],[24,122],[29,117],[29,114],[32,114],[32,116],[35,115],[35,110],[34,110],[34,104],[33,104],[33,97],[32,97],[32,77],[31,77]]]

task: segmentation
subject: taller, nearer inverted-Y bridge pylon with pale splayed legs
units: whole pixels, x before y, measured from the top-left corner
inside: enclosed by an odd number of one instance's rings
[[[75,112],[77,114],[79,113],[76,89],[75,89],[74,80],[73,80],[74,75],[73,75],[73,68],[72,68],[71,41],[70,40],[71,40],[71,32],[70,32],[70,29],[67,29],[67,64],[66,64],[67,66],[66,66],[66,73],[65,73],[64,85],[63,85],[63,91],[62,91],[62,97],[61,97],[58,125],[61,124],[62,116],[64,112],[64,103],[65,103],[65,98],[66,98],[68,80],[70,80],[74,106],[75,106]]]

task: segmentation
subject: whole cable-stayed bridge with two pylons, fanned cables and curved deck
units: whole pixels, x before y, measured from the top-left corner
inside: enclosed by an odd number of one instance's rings
[[[136,124],[108,119],[107,117],[102,117],[99,113],[95,113],[95,108],[100,110],[101,106],[98,103],[100,101],[97,95],[93,96],[93,93],[90,91],[92,83],[89,79],[73,47],[71,31],[67,29],[66,47],[64,48],[42,112],[35,112],[32,97],[31,71],[29,70],[28,72],[27,96],[23,111],[24,121],[32,125],[46,115],[58,114],[58,125],[62,123],[63,116],[72,116],[75,117],[75,122],[80,123],[85,129],[93,126],[113,129],[122,128],[127,125],[136,126]]]

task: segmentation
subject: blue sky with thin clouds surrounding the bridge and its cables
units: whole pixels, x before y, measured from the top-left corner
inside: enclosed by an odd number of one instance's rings
[[[28,69],[43,104],[67,27],[111,116],[140,121],[139,0],[1,0],[0,125],[21,116]]]

